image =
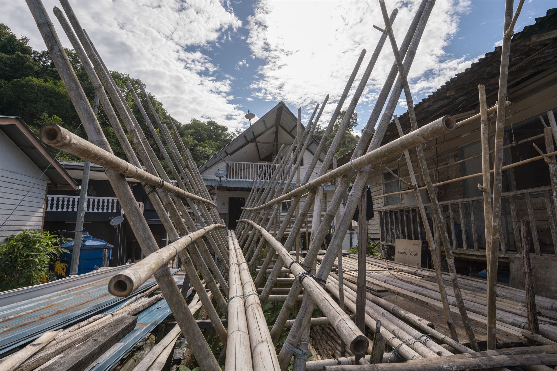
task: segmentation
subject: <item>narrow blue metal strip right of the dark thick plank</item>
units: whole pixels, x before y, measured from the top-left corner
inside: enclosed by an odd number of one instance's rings
[[[85,371],[105,371],[113,367],[141,339],[145,338],[157,325],[170,315],[167,301],[162,299],[137,315],[138,322],[131,332],[97,358]]]

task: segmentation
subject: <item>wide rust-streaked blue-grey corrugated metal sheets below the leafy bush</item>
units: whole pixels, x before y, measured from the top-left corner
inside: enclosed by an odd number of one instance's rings
[[[172,273],[178,271],[173,269]],[[114,274],[85,284],[75,280],[71,288],[0,307],[0,354],[39,337],[46,330],[60,329],[100,313],[155,284],[151,278],[130,296],[120,298],[108,292],[108,282]]]

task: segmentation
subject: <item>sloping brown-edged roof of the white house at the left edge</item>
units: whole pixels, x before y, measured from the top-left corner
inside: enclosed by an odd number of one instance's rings
[[[39,169],[46,169],[45,175],[50,179],[51,186],[69,186],[77,189],[79,185],[74,178],[52,156],[21,117],[0,116],[0,130],[6,133]]]

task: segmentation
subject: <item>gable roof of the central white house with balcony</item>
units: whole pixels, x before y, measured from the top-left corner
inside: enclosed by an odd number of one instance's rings
[[[290,111],[284,102],[280,101],[275,107],[271,108],[265,115],[261,116],[255,123],[246,128],[240,135],[218,151],[216,155],[199,166],[199,172],[203,173],[213,165],[218,164],[218,162],[223,160],[226,161],[227,157],[236,154],[248,144],[255,144],[257,151],[261,151],[267,156],[272,152],[272,147],[275,146],[272,144],[274,140],[262,142],[260,141],[261,136],[275,130],[281,130],[281,132],[286,133],[286,135],[294,141],[296,137],[296,128],[297,117]],[[305,126],[302,124],[302,130],[304,130],[304,128]],[[307,146],[307,150],[312,155],[315,155],[319,143],[314,138],[311,139],[310,145]],[[321,152],[319,160],[323,161],[325,155],[325,152]]]

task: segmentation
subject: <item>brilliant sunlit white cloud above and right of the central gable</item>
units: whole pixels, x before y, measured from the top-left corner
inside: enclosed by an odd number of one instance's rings
[[[387,2],[389,13],[394,7],[399,8],[393,24],[399,45],[419,2]],[[444,50],[456,36],[460,18],[470,11],[470,1],[436,2],[409,73],[414,95],[432,92],[475,61],[448,55]],[[312,107],[330,93],[325,112],[332,112],[362,48],[367,53],[352,91],[373,54],[380,37],[373,24],[384,27],[379,4],[374,0],[297,2],[295,12],[289,2],[261,0],[246,26],[250,29],[247,42],[253,56],[266,62],[258,68],[259,80],[252,83],[253,96]],[[373,105],[393,60],[387,40],[357,111],[363,105],[364,110]],[[349,101],[350,95],[345,107]],[[359,116],[360,122],[367,121],[367,117]]]

